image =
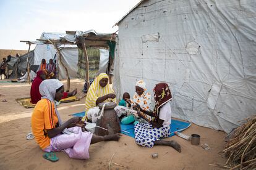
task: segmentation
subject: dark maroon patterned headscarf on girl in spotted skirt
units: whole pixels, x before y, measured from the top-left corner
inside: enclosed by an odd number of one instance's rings
[[[169,89],[168,84],[166,83],[158,83],[156,84],[154,91],[155,98],[155,120],[158,121],[159,118],[159,108],[163,106],[165,103],[169,102],[172,99],[171,91]]]

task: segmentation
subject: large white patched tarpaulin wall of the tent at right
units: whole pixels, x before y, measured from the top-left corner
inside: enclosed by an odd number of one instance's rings
[[[139,79],[152,95],[166,82],[174,117],[231,131],[256,110],[255,10],[254,0],[140,1],[116,23],[117,96]]]

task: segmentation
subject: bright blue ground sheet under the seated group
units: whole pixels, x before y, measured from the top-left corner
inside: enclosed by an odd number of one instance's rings
[[[83,117],[85,115],[85,112],[75,113],[73,116],[80,116]],[[191,123],[179,121],[176,119],[171,119],[171,134],[169,137],[174,136],[174,132],[181,132],[187,129]],[[125,134],[127,136],[134,138],[134,124],[121,124],[121,132],[122,134]]]

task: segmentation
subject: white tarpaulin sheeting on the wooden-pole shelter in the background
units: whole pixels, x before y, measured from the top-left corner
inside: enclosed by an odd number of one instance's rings
[[[64,38],[65,33],[42,33],[40,39],[59,39]],[[63,63],[69,70],[70,78],[77,77],[77,62],[78,62],[78,50],[76,45],[61,45],[61,54],[63,57]],[[34,49],[34,63],[33,65],[40,65],[42,59],[46,59],[46,63],[49,59],[54,59],[57,51],[51,44],[36,45]],[[109,51],[107,49],[100,49],[100,70],[101,72],[106,72],[108,67]],[[66,79],[66,72],[64,67],[57,62],[59,68],[59,79]]]

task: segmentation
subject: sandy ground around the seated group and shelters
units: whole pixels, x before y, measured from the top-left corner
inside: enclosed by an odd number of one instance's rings
[[[65,84],[66,82],[63,81]],[[71,89],[77,87],[77,97],[81,97],[83,81],[72,79]],[[224,148],[225,133],[215,131],[195,124],[184,131],[184,134],[200,134],[201,144],[207,143],[210,150],[204,150],[200,145],[191,145],[179,137],[169,137],[165,140],[176,140],[181,144],[182,152],[178,153],[171,147],[155,146],[140,147],[134,139],[122,135],[119,142],[100,142],[90,146],[89,160],[74,160],[65,152],[56,155],[59,161],[51,163],[43,158],[35,140],[27,140],[30,132],[30,117],[33,108],[23,108],[15,99],[28,97],[30,85],[25,83],[0,82],[0,169],[108,169],[109,161],[121,166],[112,165],[110,169],[217,169],[209,166],[213,163],[224,163],[225,159],[218,155]],[[7,102],[2,102],[6,99]],[[85,99],[78,102],[62,103],[59,113],[64,120],[72,113],[84,110]],[[152,153],[158,153],[158,158],[151,158]]]

